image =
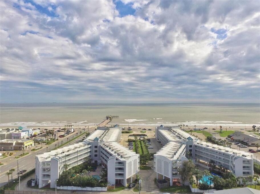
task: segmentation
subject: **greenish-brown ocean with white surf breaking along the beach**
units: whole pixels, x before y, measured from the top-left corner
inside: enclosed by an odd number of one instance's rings
[[[88,126],[106,115],[111,124],[130,126],[252,126],[260,125],[260,104],[239,103],[1,103],[0,126]]]

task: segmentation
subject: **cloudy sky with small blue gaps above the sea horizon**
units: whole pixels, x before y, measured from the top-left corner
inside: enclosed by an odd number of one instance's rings
[[[259,1],[1,1],[1,102],[259,103]]]

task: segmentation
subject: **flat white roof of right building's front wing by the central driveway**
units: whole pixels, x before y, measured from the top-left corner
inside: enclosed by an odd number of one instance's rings
[[[186,147],[186,144],[181,142],[170,141],[162,149],[160,149],[155,155],[161,155],[169,160],[177,160],[180,157],[180,153]]]

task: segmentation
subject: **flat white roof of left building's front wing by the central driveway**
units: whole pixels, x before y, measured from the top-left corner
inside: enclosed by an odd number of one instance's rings
[[[104,143],[102,147],[115,155],[119,160],[127,160],[132,156],[139,155],[127,149],[126,147],[123,147],[117,142]]]

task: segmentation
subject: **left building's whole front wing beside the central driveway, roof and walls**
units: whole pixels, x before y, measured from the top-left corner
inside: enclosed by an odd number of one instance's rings
[[[121,182],[126,187],[127,179],[139,172],[139,154],[123,147],[119,143],[110,142],[101,145],[102,166],[107,168],[107,181],[114,185]]]

